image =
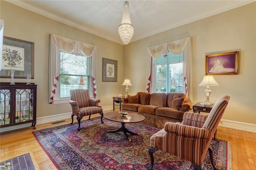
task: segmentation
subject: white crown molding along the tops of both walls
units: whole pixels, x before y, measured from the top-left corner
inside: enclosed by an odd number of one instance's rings
[[[112,42],[116,42],[116,43],[121,44],[121,45],[124,45],[121,40],[119,40],[119,41],[118,41],[118,40],[114,40],[113,38],[108,37],[108,36],[106,36],[106,35],[101,35],[101,34],[99,34],[99,33],[97,33],[97,32],[93,32],[92,30],[89,30],[88,28],[85,28],[85,27],[80,26],[80,25],[78,25],[78,24],[75,24],[74,22],[71,22],[70,20],[66,20],[66,19],[64,19],[64,18],[61,18],[61,17],[56,16],[56,15],[54,15],[54,14],[51,14],[51,13],[49,13],[49,12],[46,12],[46,11],[40,9],[40,8],[36,8],[36,7],[34,7],[34,6],[31,6],[30,4],[27,4],[27,3],[22,2],[22,1],[20,1],[20,0],[5,0],[5,1],[10,2],[10,3],[12,3],[12,4],[15,4],[15,5],[17,5],[17,6],[20,6],[20,7],[22,7],[22,8],[25,8],[25,9],[27,9],[27,10],[36,12],[36,13],[42,15],[42,16],[46,16],[46,17],[51,18],[51,19],[53,19],[53,20],[56,20],[56,21],[58,21],[58,22],[62,22],[62,23],[64,23],[64,24],[69,25],[69,26],[72,26],[72,27],[74,27],[74,28],[83,30],[83,31],[88,32],[88,33],[90,33],[90,34],[94,34],[94,35],[99,36],[99,37],[101,37],[101,38],[110,40],[110,41],[112,41]],[[143,39],[143,38],[147,38],[147,37],[149,37],[149,36],[153,36],[153,35],[155,35],[155,34],[158,34],[158,33],[161,33],[161,32],[164,32],[164,31],[167,31],[167,30],[176,28],[176,27],[179,27],[179,26],[183,26],[183,25],[185,25],[185,24],[189,24],[189,23],[191,23],[191,22],[195,22],[195,21],[198,21],[198,20],[201,20],[201,19],[204,19],[204,18],[213,16],[213,15],[216,15],[216,14],[219,14],[219,13],[228,11],[228,10],[232,10],[232,9],[234,9],[234,8],[238,8],[238,7],[240,7],[240,6],[244,6],[244,5],[246,5],[246,4],[250,4],[250,3],[252,3],[252,2],[256,2],[256,0],[241,0],[241,1],[238,1],[238,2],[236,2],[236,3],[234,3],[234,4],[230,5],[230,6],[225,6],[225,7],[223,7],[223,8],[219,8],[218,10],[210,11],[209,13],[206,13],[206,14],[204,14],[204,15],[197,16],[197,17],[194,17],[194,18],[190,18],[189,20],[186,20],[186,21],[184,21],[184,22],[180,22],[180,23],[178,23],[178,24],[174,24],[174,25],[168,26],[168,27],[166,27],[166,28],[163,28],[163,29],[161,29],[161,30],[157,30],[157,31],[155,31],[155,32],[151,32],[150,34],[147,34],[146,36],[141,36],[141,37],[139,37],[139,38],[137,38],[137,39],[133,39],[132,41],[130,41],[130,43],[135,42],[135,41],[138,41],[138,40],[141,40],[141,39]]]

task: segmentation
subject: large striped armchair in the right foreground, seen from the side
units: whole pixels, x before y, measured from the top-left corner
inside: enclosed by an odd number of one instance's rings
[[[153,169],[153,154],[160,149],[191,161],[196,170],[204,169],[203,161],[208,150],[212,165],[214,169],[218,170],[213,162],[210,143],[229,99],[229,96],[223,96],[218,99],[208,116],[185,112],[182,123],[165,123],[162,130],[150,137],[148,153],[151,158],[151,164],[148,165],[148,169]]]

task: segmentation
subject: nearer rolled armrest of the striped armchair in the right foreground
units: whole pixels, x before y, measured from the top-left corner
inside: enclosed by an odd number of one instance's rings
[[[206,128],[198,128],[178,123],[166,122],[164,130],[167,133],[181,136],[182,138],[208,139],[211,131]]]

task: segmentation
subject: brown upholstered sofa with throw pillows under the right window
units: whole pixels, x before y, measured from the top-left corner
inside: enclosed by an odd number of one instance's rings
[[[184,93],[145,93],[122,97],[122,111],[138,112],[145,116],[142,124],[164,128],[166,122],[182,122],[183,114],[192,109]]]

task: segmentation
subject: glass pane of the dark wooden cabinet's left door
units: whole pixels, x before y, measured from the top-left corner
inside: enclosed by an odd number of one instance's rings
[[[10,124],[10,89],[0,90],[0,125]]]

